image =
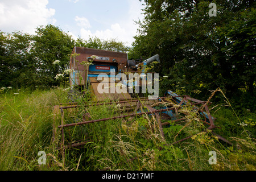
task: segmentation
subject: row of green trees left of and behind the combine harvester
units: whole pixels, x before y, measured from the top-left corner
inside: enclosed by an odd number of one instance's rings
[[[127,52],[129,47],[115,39],[74,40],[59,27],[48,24],[36,28],[35,35],[0,31],[0,86],[57,86],[58,73],[68,69],[73,47],[88,47]],[[59,60],[59,64],[53,64]]]

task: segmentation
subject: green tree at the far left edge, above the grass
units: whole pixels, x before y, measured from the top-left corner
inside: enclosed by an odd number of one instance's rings
[[[34,82],[36,73],[31,56],[32,36],[22,32],[1,32],[1,85],[21,86]]]

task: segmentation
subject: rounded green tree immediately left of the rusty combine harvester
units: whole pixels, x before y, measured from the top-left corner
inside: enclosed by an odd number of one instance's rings
[[[48,24],[46,27],[36,28],[32,53],[40,84],[58,84],[54,77],[68,67],[68,55],[74,46],[75,41],[59,27]],[[60,61],[60,66],[52,64],[55,60]]]

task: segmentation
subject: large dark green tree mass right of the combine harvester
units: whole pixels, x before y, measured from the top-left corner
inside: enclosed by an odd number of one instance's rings
[[[234,97],[241,88],[255,91],[254,1],[214,1],[216,17],[208,14],[209,1],[144,2],[130,58],[158,53],[157,71],[185,92],[221,87]]]

